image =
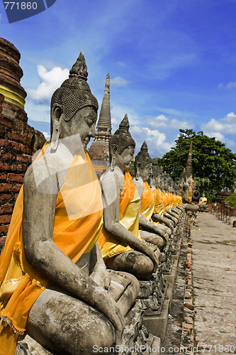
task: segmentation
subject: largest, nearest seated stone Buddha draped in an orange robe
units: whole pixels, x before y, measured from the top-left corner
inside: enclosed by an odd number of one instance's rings
[[[0,259],[1,354],[13,355],[26,329],[50,354],[119,344],[137,297],[135,277],[108,271],[96,243],[103,203],[85,148],[98,103],[87,75],[80,53],[52,95],[51,140],[28,168],[13,211]]]

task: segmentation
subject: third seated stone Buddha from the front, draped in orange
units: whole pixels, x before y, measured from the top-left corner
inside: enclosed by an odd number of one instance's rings
[[[147,152],[147,143],[144,141],[140,152],[135,157],[135,178],[133,182],[141,196],[140,207],[140,236],[145,241],[155,244],[160,250],[169,237],[167,230],[159,224],[152,222],[154,212],[154,196],[147,179],[152,174],[152,158]]]

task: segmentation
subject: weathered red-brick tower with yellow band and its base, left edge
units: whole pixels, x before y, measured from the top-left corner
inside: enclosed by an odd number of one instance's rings
[[[27,124],[20,58],[14,45],[0,38],[0,251],[23,176],[33,153],[45,143],[43,133]]]

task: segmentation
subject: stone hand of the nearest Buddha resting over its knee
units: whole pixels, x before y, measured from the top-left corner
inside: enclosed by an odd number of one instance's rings
[[[116,332],[116,345],[119,345],[125,327],[125,317],[123,317],[116,302],[108,295],[108,291],[99,287],[94,293],[94,306],[106,315],[113,324]]]

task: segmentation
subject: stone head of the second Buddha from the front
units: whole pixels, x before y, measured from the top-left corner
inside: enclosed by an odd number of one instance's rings
[[[111,163],[111,170],[114,170],[117,165],[120,170],[125,172],[130,168],[134,161],[135,141],[130,134],[130,124],[128,115],[125,114],[123,120],[120,122],[119,128],[111,136],[109,142],[109,160]]]

